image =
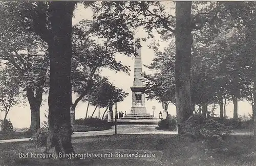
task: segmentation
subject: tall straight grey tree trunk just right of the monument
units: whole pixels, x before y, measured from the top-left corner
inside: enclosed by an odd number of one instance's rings
[[[176,56],[175,56],[175,84],[176,84],[176,112],[178,133],[182,132],[181,124],[189,115],[193,114],[190,92],[191,66],[191,3],[176,2]]]

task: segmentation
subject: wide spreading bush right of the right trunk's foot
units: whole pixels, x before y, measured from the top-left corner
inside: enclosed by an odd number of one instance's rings
[[[232,133],[230,127],[202,115],[190,116],[181,127],[182,134],[204,140],[209,147],[220,147],[225,138]]]

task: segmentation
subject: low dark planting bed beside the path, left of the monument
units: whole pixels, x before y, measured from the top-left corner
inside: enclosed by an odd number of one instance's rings
[[[90,127],[110,127],[113,124],[108,123],[108,121],[100,120],[99,118],[79,118],[75,120],[75,125],[85,125]]]

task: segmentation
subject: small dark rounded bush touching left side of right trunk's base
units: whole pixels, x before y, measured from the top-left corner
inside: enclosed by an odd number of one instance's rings
[[[177,121],[175,116],[168,115],[165,119],[158,122],[160,129],[168,129],[170,131],[177,130]]]

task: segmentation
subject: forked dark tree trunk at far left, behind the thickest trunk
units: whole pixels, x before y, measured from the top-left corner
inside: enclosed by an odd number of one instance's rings
[[[26,92],[31,111],[29,133],[35,133],[40,128],[40,106],[42,103],[42,87],[36,90],[35,96],[34,90],[31,87],[27,87]]]

